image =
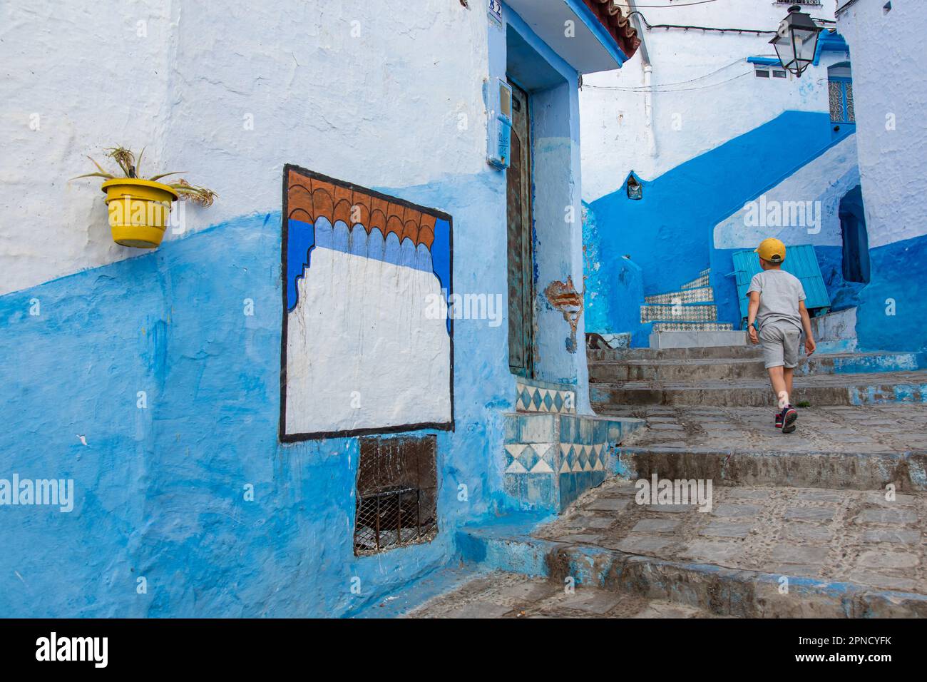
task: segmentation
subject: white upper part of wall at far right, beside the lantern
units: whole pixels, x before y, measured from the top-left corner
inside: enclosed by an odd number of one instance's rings
[[[837,17],[853,53],[859,173],[870,247],[927,234],[922,3],[858,0]]]

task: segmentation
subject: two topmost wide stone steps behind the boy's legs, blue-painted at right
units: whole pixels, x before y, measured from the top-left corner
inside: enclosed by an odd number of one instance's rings
[[[758,346],[619,348],[590,350],[588,356],[597,412],[607,414],[611,405],[773,405]],[[927,402],[927,371],[920,367],[916,353],[803,355],[792,402]]]

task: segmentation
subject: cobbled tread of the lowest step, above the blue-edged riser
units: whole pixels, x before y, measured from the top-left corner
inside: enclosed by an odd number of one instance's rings
[[[927,494],[713,485],[712,508],[639,505],[611,479],[535,535],[664,560],[927,594]]]

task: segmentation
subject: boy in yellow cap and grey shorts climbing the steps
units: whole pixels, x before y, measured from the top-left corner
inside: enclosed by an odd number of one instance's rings
[[[776,428],[782,433],[791,433],[795,430],[798,412],[789,399],[802,329],[805,330],[807,354],[814,353],[817,346],[805,307],[805,289],[798,277],[782,269],[785,244],[775,238],[763,239],[756,253],[763,272],[754,275],[747,290],[750,297],[747,328],[750,341],[763,344],[763,360],[780,407],[776,413]],[[759,327],[758,332],[754,322]]]

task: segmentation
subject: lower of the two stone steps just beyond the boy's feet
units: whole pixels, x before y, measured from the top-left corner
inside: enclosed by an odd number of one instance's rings
[[[927,402],[927,370],[879,374],[796,377],[792,402],[810,405],[866,405]],[[625,381],[590,384],[601,405],[774,405],[768,380]]]

